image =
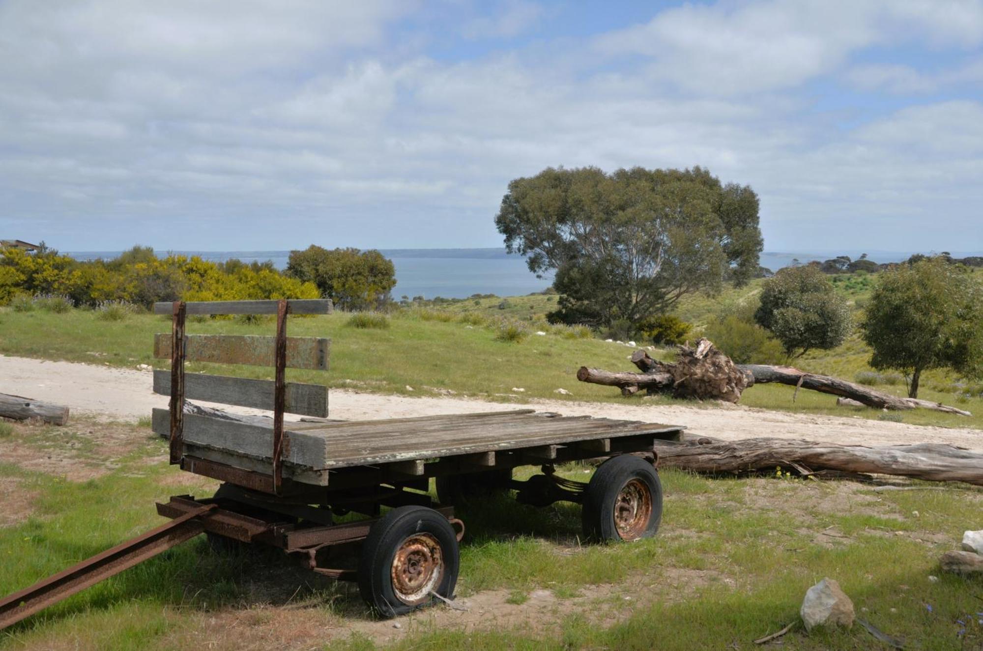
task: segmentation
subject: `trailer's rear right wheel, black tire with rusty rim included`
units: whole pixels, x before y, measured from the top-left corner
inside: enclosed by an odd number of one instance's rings
[[[594,473],[584,492],[584,536],[615,541],[651,538],[663,518],[663,485],[651,463],[614,456]]]

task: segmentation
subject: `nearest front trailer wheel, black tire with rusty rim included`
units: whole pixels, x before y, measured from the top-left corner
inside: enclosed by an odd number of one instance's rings
[[[428,606],[436,594],[450,598],[460,558],[457,536],[433,508],[400,506],[373,525],[362,546],[359,592],[381,617]]]

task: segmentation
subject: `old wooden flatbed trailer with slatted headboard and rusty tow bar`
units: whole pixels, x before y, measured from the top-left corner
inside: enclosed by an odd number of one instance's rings
[[[223,483],[210,498],[157,503],[170,522],[0,600],[0,628],[201,533],[217,552],[278,547],[315,572],[357,581],[380,616],[401,615],[453,598],[464,535],[453,506],[496,490],[514,490],[519,502],[537,506],[582,504],[587,539],[656,533],[663,495],[654,444],[678,441],[683,428],[532,409],[327,421],[326,387],[288,384],[285,369],[327,370],[330,342],[287,337],[286,325],[289,314],[330,311],[321,300],[157,304],[155,312],[173,321],[171,333],[154,342],[171,370],[154,373],[154,390],[170,395],[170,407],[154,410],[153,429],[168,438],[171,463]],[[275,314],[276,335],[186,335],[189,314]],[[272,364],[275,380],[186,375],[186,360]],[[269,409],[273,418],[204,409],[189,398]],[[284,413],[318,422],[284,422]],[[598,457],[609,458],[590,483],[555,474],[557,463]],[[524,465],[543,474],[512,479],[512,469]],[[438,502],[429,495],[431,479]],[[367,517],[335,523],[349,512]],[[328,548],[357,542],[357,567],[326,566]]]

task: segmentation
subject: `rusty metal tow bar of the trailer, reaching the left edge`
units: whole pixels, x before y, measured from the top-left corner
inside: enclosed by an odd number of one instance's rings
[[[144,535],[117,545],[75,564],[29,588],[0,600],[0,628],[5,628],[37,613],[90,585],[157,556],[176,545],[202,533],[204,525],[199,516],[215,508],[215,504],[197,503],[185,513]]]

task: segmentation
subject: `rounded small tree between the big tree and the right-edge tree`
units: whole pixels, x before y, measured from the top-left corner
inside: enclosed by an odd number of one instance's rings
[[[818,266],[786,266],[765,281],[754,320],[772,331],[789,359],[836,348],[850,331],[850,312]]]

